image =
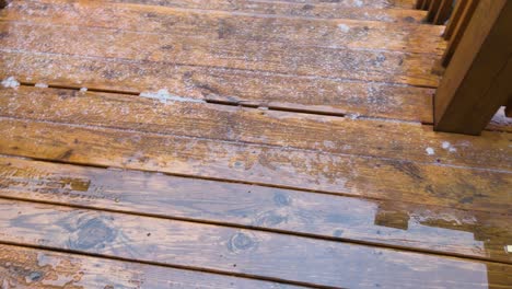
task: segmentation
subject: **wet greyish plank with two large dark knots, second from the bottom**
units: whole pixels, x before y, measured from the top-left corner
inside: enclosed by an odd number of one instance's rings
[[[502,264],[488,267],[486,262],[34,203],[0,200],[0,212],[2,242],[304,285],[510,288],[512,284],[512,267]]]

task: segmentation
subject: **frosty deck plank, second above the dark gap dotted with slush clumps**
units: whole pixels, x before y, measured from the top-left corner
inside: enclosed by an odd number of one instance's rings
[[[3,22],[3,49],[435,86],[432,55]],[[84,49],[86,47],[86,49]]]

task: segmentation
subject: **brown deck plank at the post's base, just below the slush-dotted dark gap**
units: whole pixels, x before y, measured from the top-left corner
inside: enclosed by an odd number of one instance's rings
[[[166,104],[139,95],[30,86],[0,89],[0,115],[7,117],[512,171],[510,134],[437,134],[419,124],[196,103],[181,95],[167,95]]]

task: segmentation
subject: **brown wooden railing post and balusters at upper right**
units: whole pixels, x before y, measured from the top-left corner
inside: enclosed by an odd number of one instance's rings
[[[418,0],[444,24],[445,67],[434,97],[434,129],[479,135],[501,106],[512,116],[512,0]]]

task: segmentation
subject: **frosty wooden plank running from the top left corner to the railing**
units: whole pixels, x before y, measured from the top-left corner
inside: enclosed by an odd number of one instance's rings
[[[360,12],[358,14],[363,14]],[[98,18],[97,15],[102,15]],[[151,16],[148,16],[151,15]],[[112,21],[119,19],[119,21]],[[289,43],[299,46],[388,49],[442,55],[443,27],[375,21],[317,20],[221,11],[88,2],[80,5],[19,2],[2,20],[115,28],[195,38]],[[392,32],[389,32],[392,31]]]

